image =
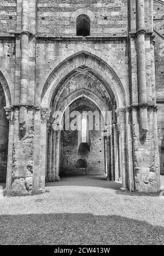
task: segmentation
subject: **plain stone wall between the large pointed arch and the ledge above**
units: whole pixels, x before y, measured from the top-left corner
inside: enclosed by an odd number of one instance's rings
[[[39,95],[39,86],[46,83],[54,68],[65,61],[69,56],[86,51],[98,56],[109,66],[116,69],[117,75],[124,85],[128,102],[128,56],[125,39],[120,40],[53,40],[39,39],[36,49],[36,95]],[[70,64],[72,65],[72,63]],[[62,72],[67,72],[67,69]],[[36,103],[39,104],[39,97]]]

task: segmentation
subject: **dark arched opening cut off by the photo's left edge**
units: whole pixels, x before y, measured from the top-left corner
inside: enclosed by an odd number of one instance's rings
[[[6,182],[8,160],[9,122],[4,107],[6,107],[5,94],[0,83],[0,183]]]

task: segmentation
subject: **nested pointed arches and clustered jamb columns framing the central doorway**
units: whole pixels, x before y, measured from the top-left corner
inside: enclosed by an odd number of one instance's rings
[[[128,167],[128,165],[126,162],[126,109],[124,106],[128,95],[125,95],[122,84],[113,69],[97,56],[80,52],[60,63],[49,75],[46,83],[40,84],[40,92],[43,111],[45,112],[48,108],[51,109],[46,139],[45,177],[47,181],[60,181],[60,175],[63,171],[62,132],[65,129],[63,120],[67,109],[76,105],[73,112],[79,111],[78,108],[82,107],[80,103],[83,103],[84,98],[86,98],[95,104],[99,112],[102,113],[104,120],[103,127],[100,129],[101,137],[99,137],[104,148],[104,151],[99,149],[99,155],[103,153],[103,171],[109,180],[121,181],[122,178],[122,187],[126,188],[128,182],[126,166]],[[78,99],[80,101],[77,104]],[[84,105],[85,107],[90,106],[88,103],[83,104],[83,107]],[[91,112],[93,110],[91,109]],[[109,119],[106,113],[110,113]],[[69,131],[70,120],[65,123],[66,131]],[[69,129],[67,129],[67,125]],[[79,138],[79,135],[77,136]],[[69,140],[69,138],[67,139]],[[87,144],[87,148],[91,149],[91,145]],[[69,149],[67,150],[69,151]],[[79,153],[79,143],[76,152]],[[76,163],[79,158],[82,156],[78,155],[75,166],[77,166]],[[69,162],[69,160],[67,161]],[[96,165],[101,164],[101,161],[98,160]],[[70,169],[66,168],[65,170]]]

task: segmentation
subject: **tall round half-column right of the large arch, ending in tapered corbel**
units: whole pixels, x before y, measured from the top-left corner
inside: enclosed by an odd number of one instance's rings
[[[137,66],[138,66],[138,90],[140,105],[140,136],[145,137],[148,132],[147,110],[147,82],[145,64],[145,15],[144,0],[137,0]]]

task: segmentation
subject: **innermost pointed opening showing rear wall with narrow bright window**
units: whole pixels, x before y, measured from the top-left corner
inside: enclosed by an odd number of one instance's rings
[[[64,114],[64,124],[67,117]],[[61,176],[106,175],[100,109],[80,97],[69,105],[69,130],[61,131]]]

